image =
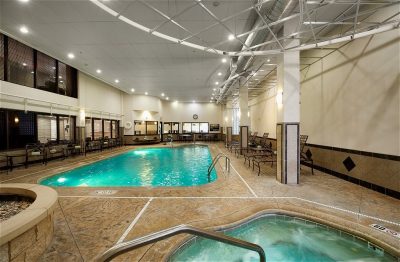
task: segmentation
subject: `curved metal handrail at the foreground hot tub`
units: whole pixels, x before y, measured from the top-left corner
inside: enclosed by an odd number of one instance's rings
[[[265,252],[259,245],[240,240],[237,238],[233,238],[230,236],[226,236],[221,233],[208,231],[196,227],[192,227],[189,225],[179,225],[175,227],[171,227],[165,230],[161,230],[143,237],[139,237],[133,239],[128,242],[123,242],[118,245],[113,246],[112,248],[108,249],[104,252],[100,257],[96,258],[95,261],[103,262],[103,261],[111,261],[111,259],[124,254],[128,251],[134,250],[136,248],[158,242],[160,240],[164,240],[166,238],[179,235],[179,234],[191,234],[196,236],[201,236],[204,238],[216,240],[225,244],[229,244],[236,247],[241,247],[244,249],[252,250],[257,252],[260,255],[260,261],[265,262]]]

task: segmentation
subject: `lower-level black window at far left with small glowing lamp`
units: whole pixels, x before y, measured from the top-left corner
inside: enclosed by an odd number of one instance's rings
[[[23,111],[8,111],[9,149],[24,148],[35,143],[35,114]]]

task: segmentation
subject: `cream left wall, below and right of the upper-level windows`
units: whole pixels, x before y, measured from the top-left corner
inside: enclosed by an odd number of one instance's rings
[[[0,81],[0,107],[44,113],[79,115],[79,109],[83,108],[86,117],[120,119],[121,94],[120,90],[81,72],[78,72],[78,99]]]

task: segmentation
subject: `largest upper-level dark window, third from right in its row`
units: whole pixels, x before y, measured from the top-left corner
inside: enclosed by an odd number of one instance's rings
[[[8,38],[7,81],[34,87],[33,49]]]

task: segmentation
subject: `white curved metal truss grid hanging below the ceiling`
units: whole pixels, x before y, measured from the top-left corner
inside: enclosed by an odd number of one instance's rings
[[[350,39],[355,39],[357,37],[363,37],[367,34],[372,34],[372,33],[377,33],[377,32],[382,32],[382,31],[387,31],[391,30],[394,28],[399,27],[400,19],[398,19],[398,14],[396,16],[392,17],[392,19],[387,20],[387,21],[377,21],[377,22],[363,22],[363,17],[371,15],[374,12],[377,12],[378,10],[382,8],[388,8],[388,7],[394,7],[398,6],[400,4],[399,1],[397,0],[382,0],[382,1],[370,1],[370,0],[322,0],[322,1],[309,1],[309,0],[299,0],[299,8],[297,12],[294,14],[289,14],[288,16],[282,17],[281,19],[277,21],[267,21],[266,17],[260,13],[260,10],[264,7],[264,5],[267,5],[267,3],[270,3],[272,0],[262,0],[258,1],[257,3],[254,3],[252,6],[249,8],[246,8],[244,10],[241,10],[240,12],[237,12],[233,15],[230,15],[225,18],[218,18],[209,8],[207,8],[203,2],[203,0],[193,0],[193,5],[187,7],[186,9],[182,10],[180,13],[174,15],[173,17],[169,17],[159,9],[155,8],[151,4],[147,3],[144,0],[139,0],[142,2],[144,5],[146,5],[148,8],[152,9],[154,12],[158,13],[160,16],[162,16],[165,20],[158,24],[157,26],[150,28],[147,27],[146,25],[139,24],[134,21],[134,18],[128,18],[123,16],[121,13],[118,13],[117,11],[114,11],[110,7],[106,5],[106,3],[102,3],[99,0],[90,0],[94,4],[96,4],[98,7],[102,8],[104,11],[108,12],[112,16],[115,16],[122,22],[125,22],[137,29],[140,29],[144,32],[147,32],[151,35],[154,35],[159,38],[163,38],[165,40],[181,44],[184,46],[188,46],[194,49],[199,49],[205,52],[210,52],[210,53],[215,53],[218,55],[227,55],[227,56],[265,56],[265,55],[270,55],[270,54],[277,54],[281,53],[283,51],[290,51],[290,50],[306,50],[306,49],[311,49],[315,47],[321,47],[325,45],[329,45],[331,43],[337,43],[337,42],[343,42],[343,41],[348,41]],[[330,6],[335,6],[335,5],[342,5],[348,8],[339,16],[331,20],[325,20],[325,21],[317,21],[318,19],[318,13],[321,11],[326,11],[327,8]],[[371,6],[374,6],[373,8],[370,8]],[[206,28],[201,29],[198,32],[191,32],[190,30],[186,29],[183,25],[181,25],[179,22],[177,22],[177,18],[179,16],[183,15],[186,11],[192,8],[201,8],[203,11],[205,11],[207,14],[212,17],[212,19],[215,20],[215,23],[207,26]],[[353,10],[355,9],[355,11]],[[362,11],[365,9],[364,11]],[[348,15],[345,15],[349,10],[353,10],[352,12],[349,12]],[[258,16],[261,17],[261,19],[264,22],[264,26],[258,27],[256,29],[249,30],[247,32],[243,32],[240,34],[234,34],[234,32],[227,26],[227,22],[237,18],[238,16],[243,15],[244,13],[248,12],[256,12]],[[397,18],[396,18],[397,17]],[[274,26],[277,26],[279,24],[282,24],[288,20],[291,19],[298,19],[299,21],[299,28],[300,30],[298,32],[295,32],[293,34],[289,35],[283,35],[280,38],[277,37],[278,32],[274,32],[273,28]],[[183,29],[186,33],[187,36],[183,38],[177,38],[174,36],[170,36],[167,34],[163,34],[159,31],[163,25],[166,23],[173,23],[175,26],[179,27],[180,29]],[[325,32],[324,29],[330,26],[345,26],[347,25],[348,28],[339,32],[338,34],[334,35],[325,35],[323,32]],[[215,26],[222,26],[226,29],[228,33],[232,35],[232,37],[235,38],[236,41],[238,41],[243,47],[245,47],[244,50],[241,51],[231,51],[229,49],[219,49],[224,46],[224,44],[227,44],[230,40],[225,40],[225,41],[220,41],[215,44],[210,44],[208,43],[207,40],[202,39],[199,35],[201,33],[204,33],[208,30],[212,30]],[[257,33],[260,30],[267,29],[271,35],[273,36],[273,41],[268,41],[264,42],[261,44],[257,44],[255,46],[247,46],[245,43],[245,38],[247,38],[248,35]],[[371,31],[375,30],[375,31]],[[312,35],[310,39],[310,34]],[[281,42],[283,42],[285,39],[290,39],[290,38],[297,38],[300,39],[300,44],[295,47],[291,48],[285,48]],[[196,38],[197,40],[200,40],[200,43],[202,44],[196,44],[193,42],[190,42],[193,40],[193,38]],[[276,43],[278,44],[278,48],[266,48],[267,46],[271,45],[271,43]],[[264,47],[264,50],[258,50],[255,51],[256,49],[260,49],[261,47]]]

